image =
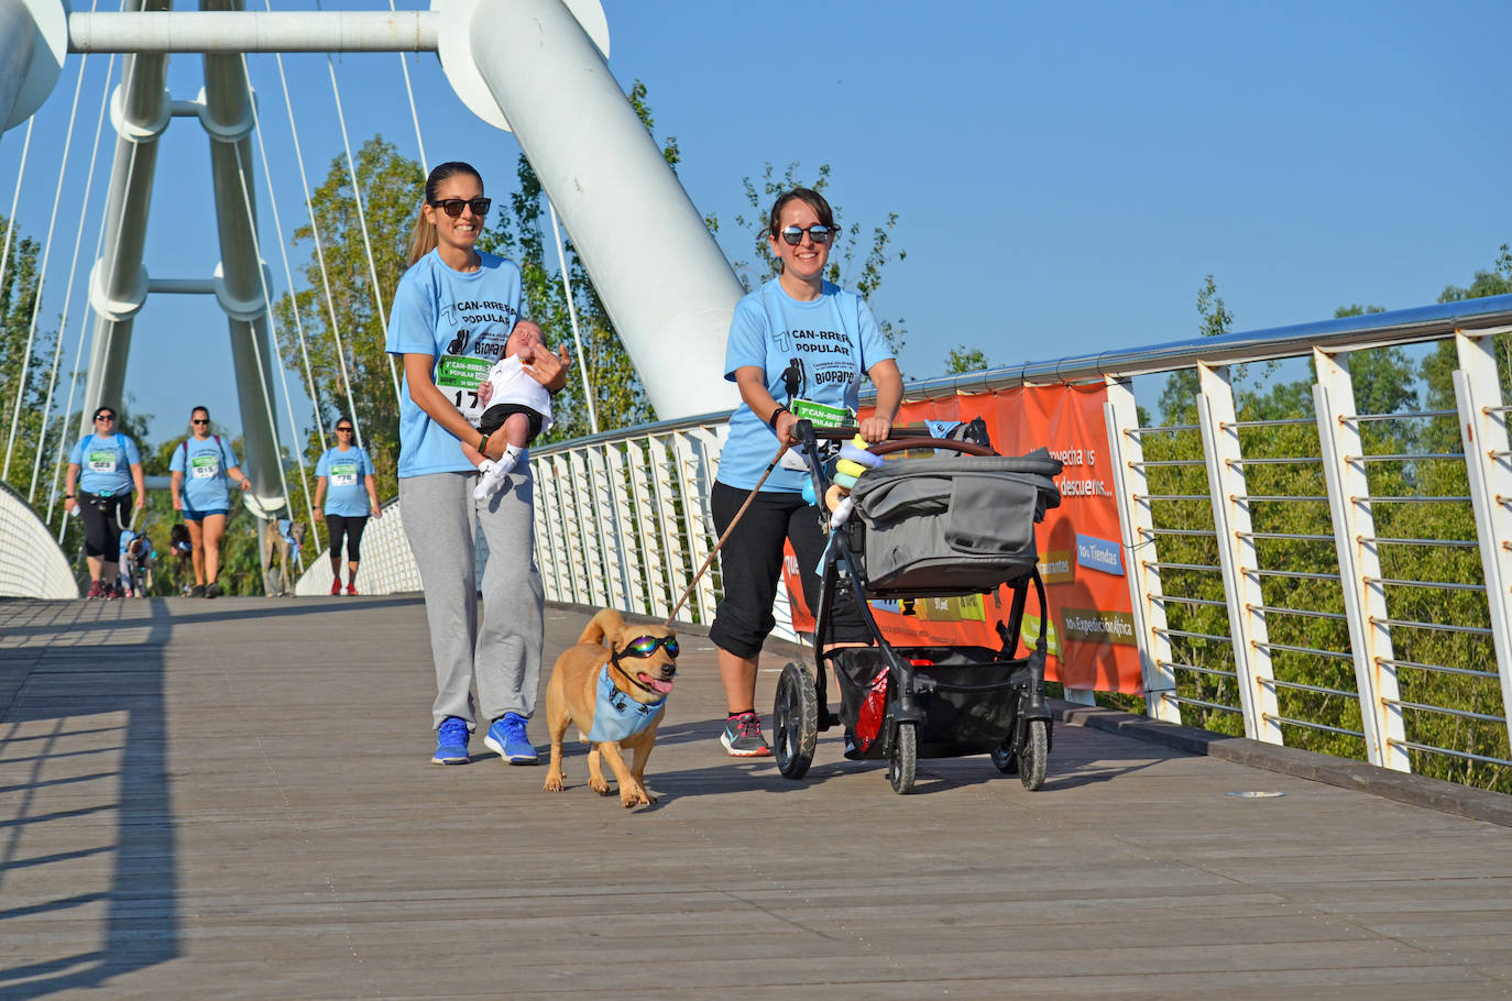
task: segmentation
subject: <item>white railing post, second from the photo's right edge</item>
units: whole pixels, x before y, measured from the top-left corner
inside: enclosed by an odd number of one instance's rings
[[[1365,448],[1356,420],[1349,354],[1314,348],[1312,364],[1318,377],[1312,404],[1338,550],[1340,587],[1344,588],[1344,612],[1349,617],[1365,759],[1383,768],[1412,771],[1412,761],[1402,745],[1406,739],[1402,708],[1396,705],[1397,668],[1393,667],[1391,628],[1387,624],[1387,590],[1380,584],[1380,553],[1374,544],[1362,541],[1376,537],[1376,516],[1361,458]]]

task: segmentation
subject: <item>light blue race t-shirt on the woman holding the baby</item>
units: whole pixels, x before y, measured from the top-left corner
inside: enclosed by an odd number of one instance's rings
[[[478,271],[452,271],[431,251],[399,278],[389,316],[386,351],[395,355],[428,354],[437,389],[473,425],[482,416],[478,384],[503,357],[514,322],[520,319],[520,269],[514,262],[479,251]],[[431,420],[410,399],[405,375],[399,401],[399,478],[467,472],[457,437]]]

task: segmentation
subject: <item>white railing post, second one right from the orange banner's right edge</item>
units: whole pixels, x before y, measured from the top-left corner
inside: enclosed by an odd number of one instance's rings
[[[1198,363],[1198,416],[1202,420],[1202,452],[1213,496],[1213,526],[1217,529],[1219,562],[1228,599],[1229,635],[1234,670],[1238,677],[1244,736],[1267,744],[1282,744],[1276,720],[1276,690],[1270,685],[1270,634],[1266,629],[1266,599],[1259,590],[1259,569],[1249,517],[1249,490],[1244,484],[1244,455],[1238,445],[1234,390],[1228,366]]]

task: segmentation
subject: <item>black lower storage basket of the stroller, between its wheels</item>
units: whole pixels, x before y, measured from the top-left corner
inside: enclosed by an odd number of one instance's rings
[[[924,718],[919,723],[919,758],[986,755],[1002,745],[1013,729],[1019,696],[1030,683],[1028,658],[1004,661],[984,647],[898,647],[913,661],[921,686],[937,685],[916,696]],[[874,706],[886,693],[878,679],[888,661],[877,647],[848,647],[835,655],[841,686],[841,720],[866,745],[862,758],[881,758],[883,741]],[[886,682],[880,682],[886,685]],[[874,694],[875,693],[875,694]]]

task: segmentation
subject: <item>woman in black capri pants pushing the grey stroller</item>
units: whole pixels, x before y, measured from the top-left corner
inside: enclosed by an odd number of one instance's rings
[[[881,442],[903,401],[903,375],[866,302],[824,280],[839,230],[830,203],[816,191],[794,187],[771,207],[767,240],[777,277],[735,307],[724,352],[724,378],[741,390],[730,416],[730,437],[709,494],[718,535],[750,496],[779,443],[794,445],[798,419],[794,399],[854,411],[860,381],[877,387],[877,408],[860,422],[868,442]],[[779,401],[786,402],[779,402]],[[803,499],[809,475],[803,461],[785,455],[762,484],[750,510],[720,550],[724,600],[709,629],[718,647],[720,680],[729,718],[720,744],[735,758],[771,753],[756,714],[756,668],[774,626],[771,603],[782,573],[782,543],[792,541],[803,597],[818,608],[815,567],[824,552],[820,511]],[[854,597],[836,594],[829,640],[868,643],[871,634]]]

